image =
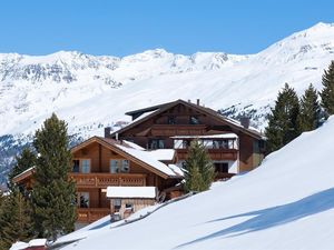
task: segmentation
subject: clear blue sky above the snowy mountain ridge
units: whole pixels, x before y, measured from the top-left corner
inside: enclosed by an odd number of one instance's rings
[[[7,0],[0,11],[0,52],[27,54],[255,53],[334,22],[330,0]]]

